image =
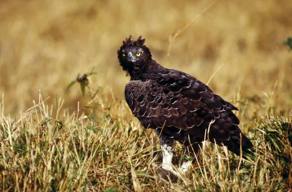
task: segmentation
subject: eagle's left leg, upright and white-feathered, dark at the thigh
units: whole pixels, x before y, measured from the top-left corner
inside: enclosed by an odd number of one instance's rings
[[[174,173],[175,175],[178,175],[176,171],[173,170],[172,167],[172,157],[173,157],[173,144],[174,139],[171,138],[169,135],[166,135],[164,133],[160,134],[160,130],[155,130],[156,134],[160,136],[159,143],[162,150],[162,168],[164,170],[170,171],[171,173]]]

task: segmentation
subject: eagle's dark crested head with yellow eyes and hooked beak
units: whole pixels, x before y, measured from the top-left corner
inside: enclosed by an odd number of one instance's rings
[[[147,65],[147,61],[152,60],[150,50],[144,45],[145,38],[140,36],[133,40],[132,36],[123,41],[123,45],[118,50],[118,59],[123,70],[131,74],[134,70],[142,69]]]

